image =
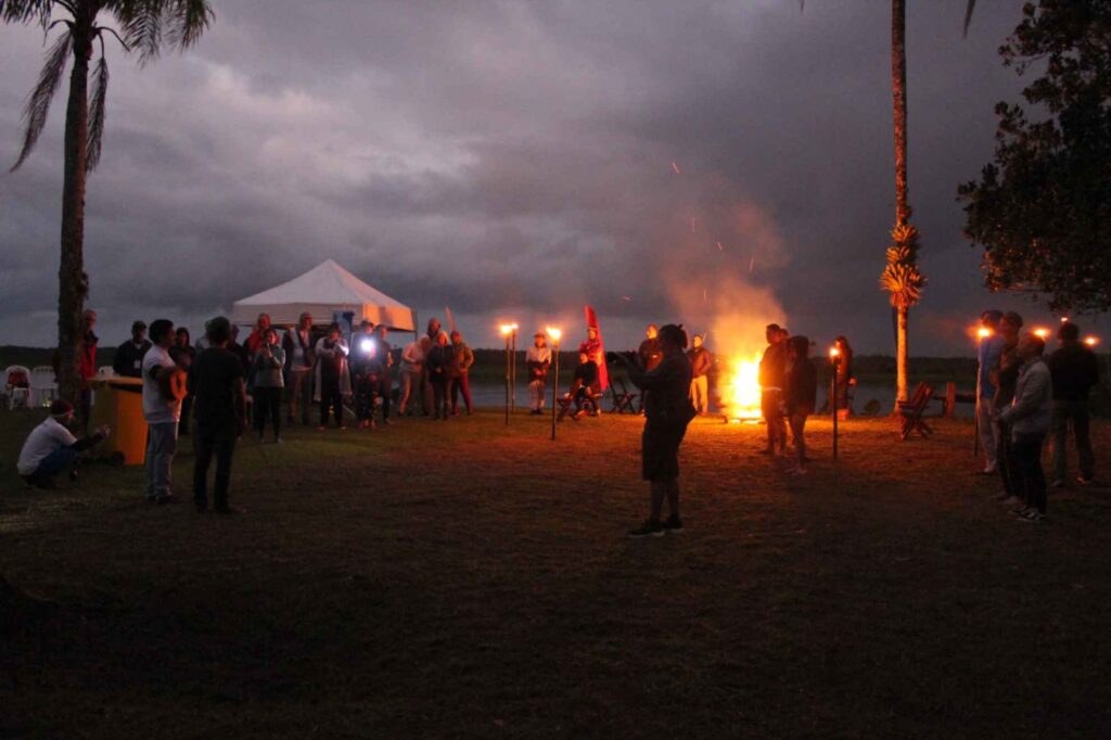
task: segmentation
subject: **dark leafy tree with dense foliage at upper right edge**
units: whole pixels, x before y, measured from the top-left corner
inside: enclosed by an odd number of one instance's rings
[[[958,189],[985,284],[1054,310],[1111,308],[1111,0],[1028,2],[999,50],[1041,76],[995,106],[995,156]]]

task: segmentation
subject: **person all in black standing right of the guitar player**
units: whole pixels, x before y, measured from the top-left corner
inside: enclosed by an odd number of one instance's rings
[[[193,504],[198,512],[208,509],[208,469],[216,456],[216,482],[212,503],[217,513],[243,513],[228,503],[231,481],[231,459],[236,442],[247,429],[247,393],[243,387],[243,366],[228,350],[231,341],[231,322],[217,317],[208,322],[208,349],[197,356],[189,387],[196,398],[193,434]]]

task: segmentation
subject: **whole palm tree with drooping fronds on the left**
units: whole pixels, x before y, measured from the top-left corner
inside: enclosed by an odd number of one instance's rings
[[[56,19],[56,13],[60,17]],[[113,30],[101,24],[114,21]],[[46,57],[39,80],[23,109],[23,146],[12,171],[27,160],[47,123],[47,113],[70,57],[69,101],[66,107],[64,176],[62,179],[61,262],[58,268],[58,386],[62,398],[76,402],[81,379],[78,358],[81,313],[89,293],[84,272],[86,177],[100,161],[108,93],[106,37],[113,37],[126,52],[138,51],[139,63],[158,58],[163,41],[184,49],[192,46],[212,21],[208,0],[0,0],[0,20],[36,22],[46,36],[62,27]],[[89,61],[94,47],[100,59],[93,71],[89,100]]]

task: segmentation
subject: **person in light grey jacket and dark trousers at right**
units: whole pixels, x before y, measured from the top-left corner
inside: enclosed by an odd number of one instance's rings
[[[1000,412],[1000,421],[1011,433],[1012,484],[1022,501],[1013,513],[1027,521],[1045,518],[1045,474],[1041,448],[1053,419],[1053,383],[1049,366],[1042,359],[1045,342],[1033,334],[1018,346],[1021,361],[1014,382],[1014,398]]]

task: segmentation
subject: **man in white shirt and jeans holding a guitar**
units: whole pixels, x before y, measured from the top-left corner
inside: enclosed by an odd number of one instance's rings
[[[147,420],[147,488],[143,496],[152,503],[174,503],[170,466],[178,447],[184,378],[183,371],[170,359],[173,322],[169,319],[151,322],[150,339],[153,346],[142,359],[142,416]],[[180,396],[174,388],[180,389]]]

